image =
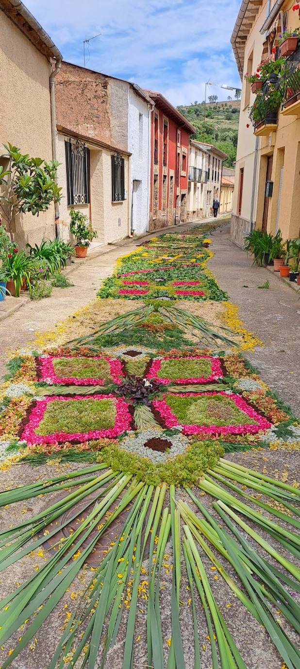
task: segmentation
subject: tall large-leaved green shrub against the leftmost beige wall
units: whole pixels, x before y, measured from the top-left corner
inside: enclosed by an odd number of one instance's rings
[[[61,188],[56,183],[57,161],[44,161],[21,154],[10,143],[4,145],[7,150],[9,169],[1,172],[1,183],[6,186],[0,196],[0,207],[7,221],[9,233],[15,213],[29,211],[33,216],[47,211],[52,202],[61,199]],[[5,178],[7,177],[7,178]]]

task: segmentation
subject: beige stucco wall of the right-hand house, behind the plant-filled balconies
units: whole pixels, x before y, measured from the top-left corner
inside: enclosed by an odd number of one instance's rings
[[[259,33],[261,25],[265,20],[267,2],[263,3],[261,11],[257,15],[255,23],[249,33],[245,45],[245,68],[249,54],[253,50],[253,74],[257,64],[261,61],[264,35]],[[288,11],[287,28],[299,27],[299,15],[291,10],[288,1],[281,7],[282,11]],[[249,73],[251,74],[251,73]],[[250,219],[251,195],[254,173],[255,141],[253,127],[248,118],[247,106],[243,108],[245,101],[246,84],[243,78],[243,92],[241,96],[241,114],[239,118],[239,139],[237,144],[237,163],[235,171],[235,191],[233,197],[233,224],[232,236],[239,237],[239,225],[247,233],[247,222]],[[255,100],[255,94],[250,95],[250,104]],[[249,123],[249,128],[247,128]],[[279,110],[279,122],[276,132],[258,139],[258,163],[257,182],[254,198],[253,221],[257,228],[261,228],[263,219],[263,203],[265,198],[265,174],[267,156],[273,155],[273,167],[271,179],[274,182],[273,196],[269,199],[269,210],[267,218],[267,231],[275,233],[280,228],[285,239],[297,237],[300,234],[300,118],[297,116],[283,116]],[[239,197],[239,172],[244,169],[243,197],[241,214],[238,215]],[[283,167],[283,183],[281,198],[279,202],[279,178],[280,169]],[[277,217],[277,213],[279,216]]]

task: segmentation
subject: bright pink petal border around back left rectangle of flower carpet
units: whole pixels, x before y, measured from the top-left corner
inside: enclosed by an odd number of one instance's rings
[[[103,385],[105,379],[93,379],[87,377],[86,379],[77,379],[77,377],[59,377],[55,373],[53,360],[60,360],[61,358],[84,358],[84,356],[77,355],[47,355],[46,358],[39,358],[41,381],[51,381],[51,383],[61,383],[67,385]],[[87,358],[87,360],[105,360],[109,364],[111,371],[111,379],[118,385],[122,383],[120,377],[124,378],[123,369],[119,360],[112,358],[105,358],[103,355],[94,355]]]

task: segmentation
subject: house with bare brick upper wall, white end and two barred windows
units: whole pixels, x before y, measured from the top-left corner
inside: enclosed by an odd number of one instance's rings
[[[63,62],[55,80],[59,230],[81,209],[107,244],[147,231],[152,102],[131,82]]]

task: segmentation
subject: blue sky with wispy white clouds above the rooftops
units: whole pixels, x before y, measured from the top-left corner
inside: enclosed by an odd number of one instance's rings
[[[241,88],[230,37],[241,0],[25,0],[63,58],[157,90],[174,105]]]

